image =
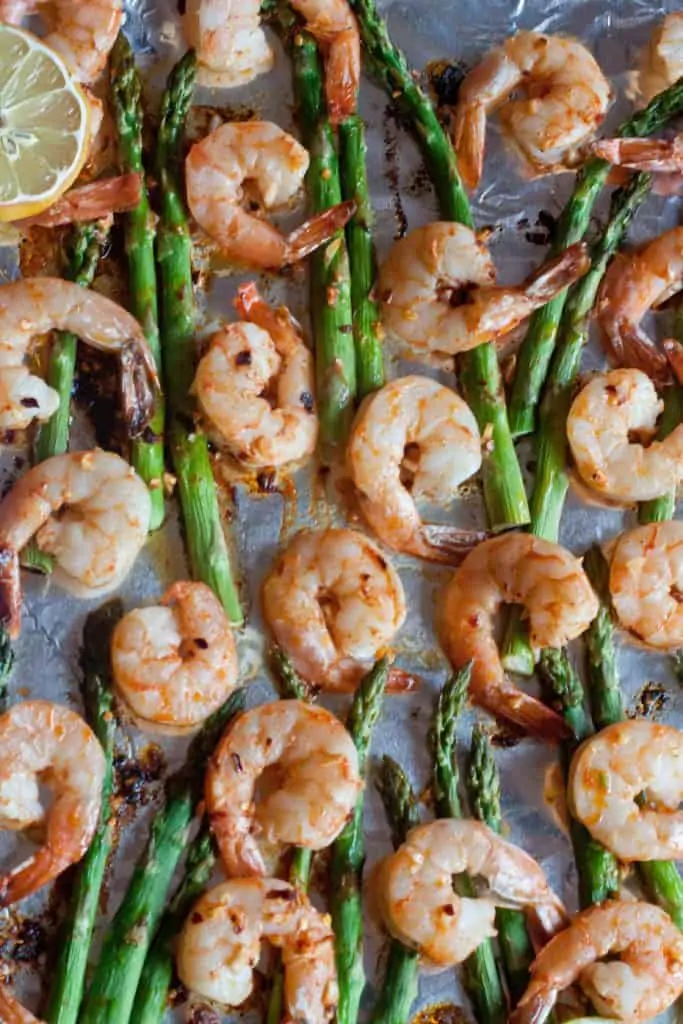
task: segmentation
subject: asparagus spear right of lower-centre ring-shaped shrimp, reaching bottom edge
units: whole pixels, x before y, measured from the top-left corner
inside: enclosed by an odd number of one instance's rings
[[[358,771],[361,774],[373,731],[382,712],[388,674],[389,662],[383,657],[358,684],[348,713],[346,728],[358,752]],[[339,984],[338,1024],[356,1024],[366,984],[362,968],[364,806],[361,793],[353,817],[332,847],[331,910]]]

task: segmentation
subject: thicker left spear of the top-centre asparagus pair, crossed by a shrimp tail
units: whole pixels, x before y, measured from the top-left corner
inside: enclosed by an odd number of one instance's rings
[[[313,213],[342,201],[335,135],[325,110],[317,46],[306,32],[288,33],[294,91],[303,143],[310,153],[306,188]],[[356,395],[351,283],[343,231],[310,257],[310,308],[315,339],[315,373],[321,436],[343,443]]]

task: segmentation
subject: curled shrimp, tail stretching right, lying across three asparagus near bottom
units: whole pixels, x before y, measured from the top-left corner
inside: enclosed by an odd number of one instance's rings
[[[468,871],[488,886],[482,898],[461,898],[454,874]],[[440,818],[414,828],[382,863],[380,909],[387,930],[429,966],[461,964],[496,935],[497,906],[543,907],[555,921],[564,911],[539,864],[480,821]]]

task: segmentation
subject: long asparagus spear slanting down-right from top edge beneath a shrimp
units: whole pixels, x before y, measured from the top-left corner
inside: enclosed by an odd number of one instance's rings
[[[389,39],[375,0],[351,0],[371,70],[404,112],[429,168],[441,216],[472,226],[472,214],[451,140],[417,84],[400,50]],[[488,443],[481,467],[484,504],[493,528],[528,522],[528,506],[512,442],[505,394],[494,345],[480,345],[460,359],[465,396]]]

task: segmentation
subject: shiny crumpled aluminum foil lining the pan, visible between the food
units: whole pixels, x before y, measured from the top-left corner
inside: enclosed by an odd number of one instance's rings
[[[492,45],[519,29],[537,29],[573,35],[583,40],[595,54],[615,92],[606,130],[615,126],[632,104],[627,98],[631,79],[629,73],[637,63],[639,50],[647,41],[654,25],[674,4],[653,5],[646,0],[413,0],[380,4],[388,17],[393,39],[403,48],[410,63],[424,69],[429,62],[457,59],[472,66]],[[151,94],[163,85],[166,73],[180,53],[182,38],[180,23],[173,0],[129,0],[127,32],[134,42],[148,73]],[[276,39],[275,70],[251,86],[221,93],[200,93],[199,103],[212,104],[226,117],[258,116],[276,121],[293,129],[291,77],[289,62]],[[370,178],[376,212],[375,237],[382,258],[392,242],[407,228],[434,219],[434,196],[419,158],[417,146],[401,128],[384,93],[364,79],[361,113],[368,125]],[[484,178],[474,204],[478,226],[489,225],[494,230],[492,252],[503,282],[520,281],[544,258],[545,225],[548,215],[557,215],[571,188],[571,175],[555,175],[536,181],[525,181],[516,173],[512,158],[505,154],[496,127],[488,129],[487,157]],[[606,199],[595,211],[596,220],[604,217]],[[291,215],[293,222],[301,219],[302,211]],[[650,239],[673,226],[679,220],[679,202],[651,197],[641,210],[629,233],[630,243]],[[3,250],[2,267],[11,275],[12,253]],[[231,298],[237,285],[247,275],[220,274],[211,279],[203,296],[205,323],[202,334],[221,319],[232,316]],[[286,279],[269,279],[262,283],[273,299],[286,301],[304,324],[307,322],[307,288],[302,274],[295,272]],[[661,316],[666,314],[659,314]],[[593,340],[586,353],[586,370],[603,365],[600,348]],[[408,364],[388,359],[390,375],[400,375],[411,369]],[[431,373],[425,368],[419,372]],[[446,377],[442,378],[447,380]],[[450,381],[454,383],[453,380]],[[91,443],[87,423],[79,420],[77,444]],[[530,461],[532,451],[522,446],[523,462]],[[3,480],[7,482],[25,467],[26,452],[6,449],[3,453]],[[259,609],[259,590],[264,573],[271,564],[280,545],[301,525],[343,521],[344,510],[336,503],[332,488],[321,498],[319,486],[313,486],[315,467],[297,474],[295,487],[283,486],[278,493],[255,496],[253,489],[234,484],[234,516],[232,532],[239,552],[243,579],[243,597],[248,626],[240,640],[241,660],[245,678],[251,680],[249,700],[258,703],[272,696],[272,690],[262,669],[264,650],[263,624]],[[296,495],[296,497],[293,497]],[[462,524],[483,521],[481,499],[470,488],[458,503],[455,514]],[[454,510],[442,513],[453,517]],[[633,515],[586,505],[570,495],[562,526],[561,540],[578,552],[593,542],[608,539],[632,524]],[[442,684],[447,666],[438,650],[433,633],[433,609],[438,588],[446,572],[394,557],[409,597],[408,623],[397,638],[398,664],[419,673],[424,684],[408,696],[394,696],[386,701],[384,715],[374,742],[373,756],[396,757],[410,772],[416,788],[424,793],[429,783],[429,757],[426,734],[434,697]],[[169,521],[152,538],[135,568],[121,590],[127,608],[152,602],[174,579],[186,573],[184,554],[177,526],[177,515],[171,502]],[[11,682],[12,697],[48,697],[79,706],[78,653],[84,618],[90,606],[56,589],[49,579],[25,575],[26,606],[17,664]],[[620,642],[620,669],[628,706],[642,710],[643,687],[647,691],[649,714],[663,721],[683,725],[683,695],[664,657],[638,649],[625,639]],[[531,684],[532,685],[532,684]],[[328,701],[336,711],[343,711],[343,701]],[[473,713],[460,723],[462,750],[467,749]],[[133,725],[125,725],[121,736],[124,757],[148,754],[148,743],[159,744],[169,766],[177,763],[185,746],[182,739],[142,733]],[[569,842],[549,804],[547,779],[556,754],[540,743],[519,742],[502,745],[498,763],[503,780],[505,825],[509,838],[536,855],[548,872],[557,892],[569,909],[577,906],[577,873]],[[373,765],[371,763],[371,778]],[[148,783],[146,806],[131,810],[128,823],[114,857],[105,906],[99,923],[99,936],[106,926],[123,892],[135,856],[142,848],[150,816],[161,796],[159,784]],[[425,816],[429,810],[425,806]],[[389,849],[388,830],[380,801],[371,782],[368,787],[367,812],[368,863],[372,868]],[[0,836],[3,864],[17,862],[28,848],[26,841],[8,834]],[[58,903],[58,901],[57,901]],[[58,918],[55,899],[39,896],[27,901],[22,914],[5,914],[2,922],[9,943],[3,947],[10,954],[20,950],[14,944],[17,935],[24,937],[31,929],[45,930],[46,947],[54,947],[51,923]],[[47,904],[47,912],[45,907]],[[99,939],[95,942],[95,948]],[[40,943],[39,943],[40,945]],[[381,951],[383,939],[372,920],[367,921],[368,987],[364,1008],[372,1007],[382,979]],[[25,957],[26,958],[26,957]],[[30,958],[30,957],[29,957]],[[15,956],[18,962],[19,957]],[[39,1006],[41,979],[49,977],[49,952],[38,956],[37,968],[24,969],[15,963],[17,992],[27,1005]],[[465,1018],[471,1019],[467,999],[459,985],[457,972],[421,976],[420,993],[415,1012],[446,1001],[462,1007]],[[193,1002],[180,1002],[169,1011],[168,1021],[189,1020]],[[216,1020],[236,1020],[248,1013],[262,1019],[258,1000],[251,1010],[233,1013]],[[664,1018],[663,1018],[664,1020]]]

